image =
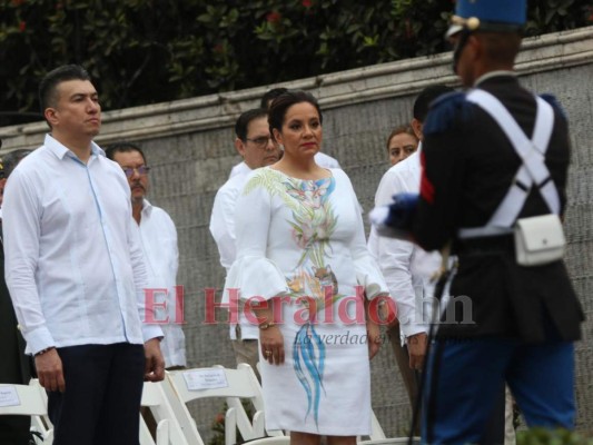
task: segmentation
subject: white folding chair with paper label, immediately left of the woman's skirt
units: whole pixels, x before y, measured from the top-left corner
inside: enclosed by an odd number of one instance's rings
[[[205,377],[206,374],[211,374],[215,379],[221,382],[214,385],[209,384],[208,377]],[[198,380],[201,377],[205,377],[206,380],[200,383]],[[234,445],[237,442],[237,429],[244,441],[266,436],[261,387],[249,365],[240,364],[237,369],[214,366],[211,368],[172,370],[167,373],[167,380],[172,393],[168,394],[169,402],[190,445],[201,445],[202,442],[186,404],[200,398],[221,397],[226,399],[228,409],[225,414],[225,445]],[[188,383],[192,380],[198,383],[195,385]],[[241,403],[244,399],[250,400],[254,406],[253,421],[249,421],[249,416],[245,412]]]

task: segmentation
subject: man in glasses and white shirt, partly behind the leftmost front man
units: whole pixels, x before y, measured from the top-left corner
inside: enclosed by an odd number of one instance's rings
[[[165,335],[160,343],[165,366],[167,369],[185,367],[186,337],[181,328],[182,314],[178,310],[182,306],[178,306],[181,301],[176,300],[179,267],[177,229],[164,209],[146,199],[150,167],[141,148],[130,142],[116,142],[106,148],[106,156],[119,164],[130,186],[131,211],[140,230],[148,288],[155,289],[150,299],[156,309],[156,322]]]

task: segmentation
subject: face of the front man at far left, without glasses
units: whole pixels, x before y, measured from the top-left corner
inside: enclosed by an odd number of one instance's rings
[[[97,136],[101,128],[101,106],[92,83],[67,80],[56,88],[57,102],[46,110],[52,129],[75,138]]]

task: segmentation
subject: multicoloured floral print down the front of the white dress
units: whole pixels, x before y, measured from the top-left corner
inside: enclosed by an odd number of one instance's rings
[[[340,294],[338,281],[327,261],[332,258],[330,239],[337,225],[329,197],[336,181],[332,176],[317,180],[290,178],[267,168],[254,176],[244,192],[264,187],[271,196],[279,196],[290,209],[290,237],[302,250],[294,274],[285,277],[290,297],[309,309],[306,320],[296,333],[293,344],[295,374],[307,396],[307,416],[318,421],[319,402],[324,393],[323,377],[326,346],[315,329],[315,319],[326,304],[334,304]],[[313,304],[312,304],[313,303]]]

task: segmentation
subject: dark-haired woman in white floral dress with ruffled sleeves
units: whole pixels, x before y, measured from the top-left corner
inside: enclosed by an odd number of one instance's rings
[[[284,156],[254,171],[238,200],[226,291],[239,289],[259,325],[266,427],[288,429],[291,444],[354,445],[370,433],[369,357],[378,306],[393,300],[348,177],[315,164],[322,119],[307,92],[274,100]]]

